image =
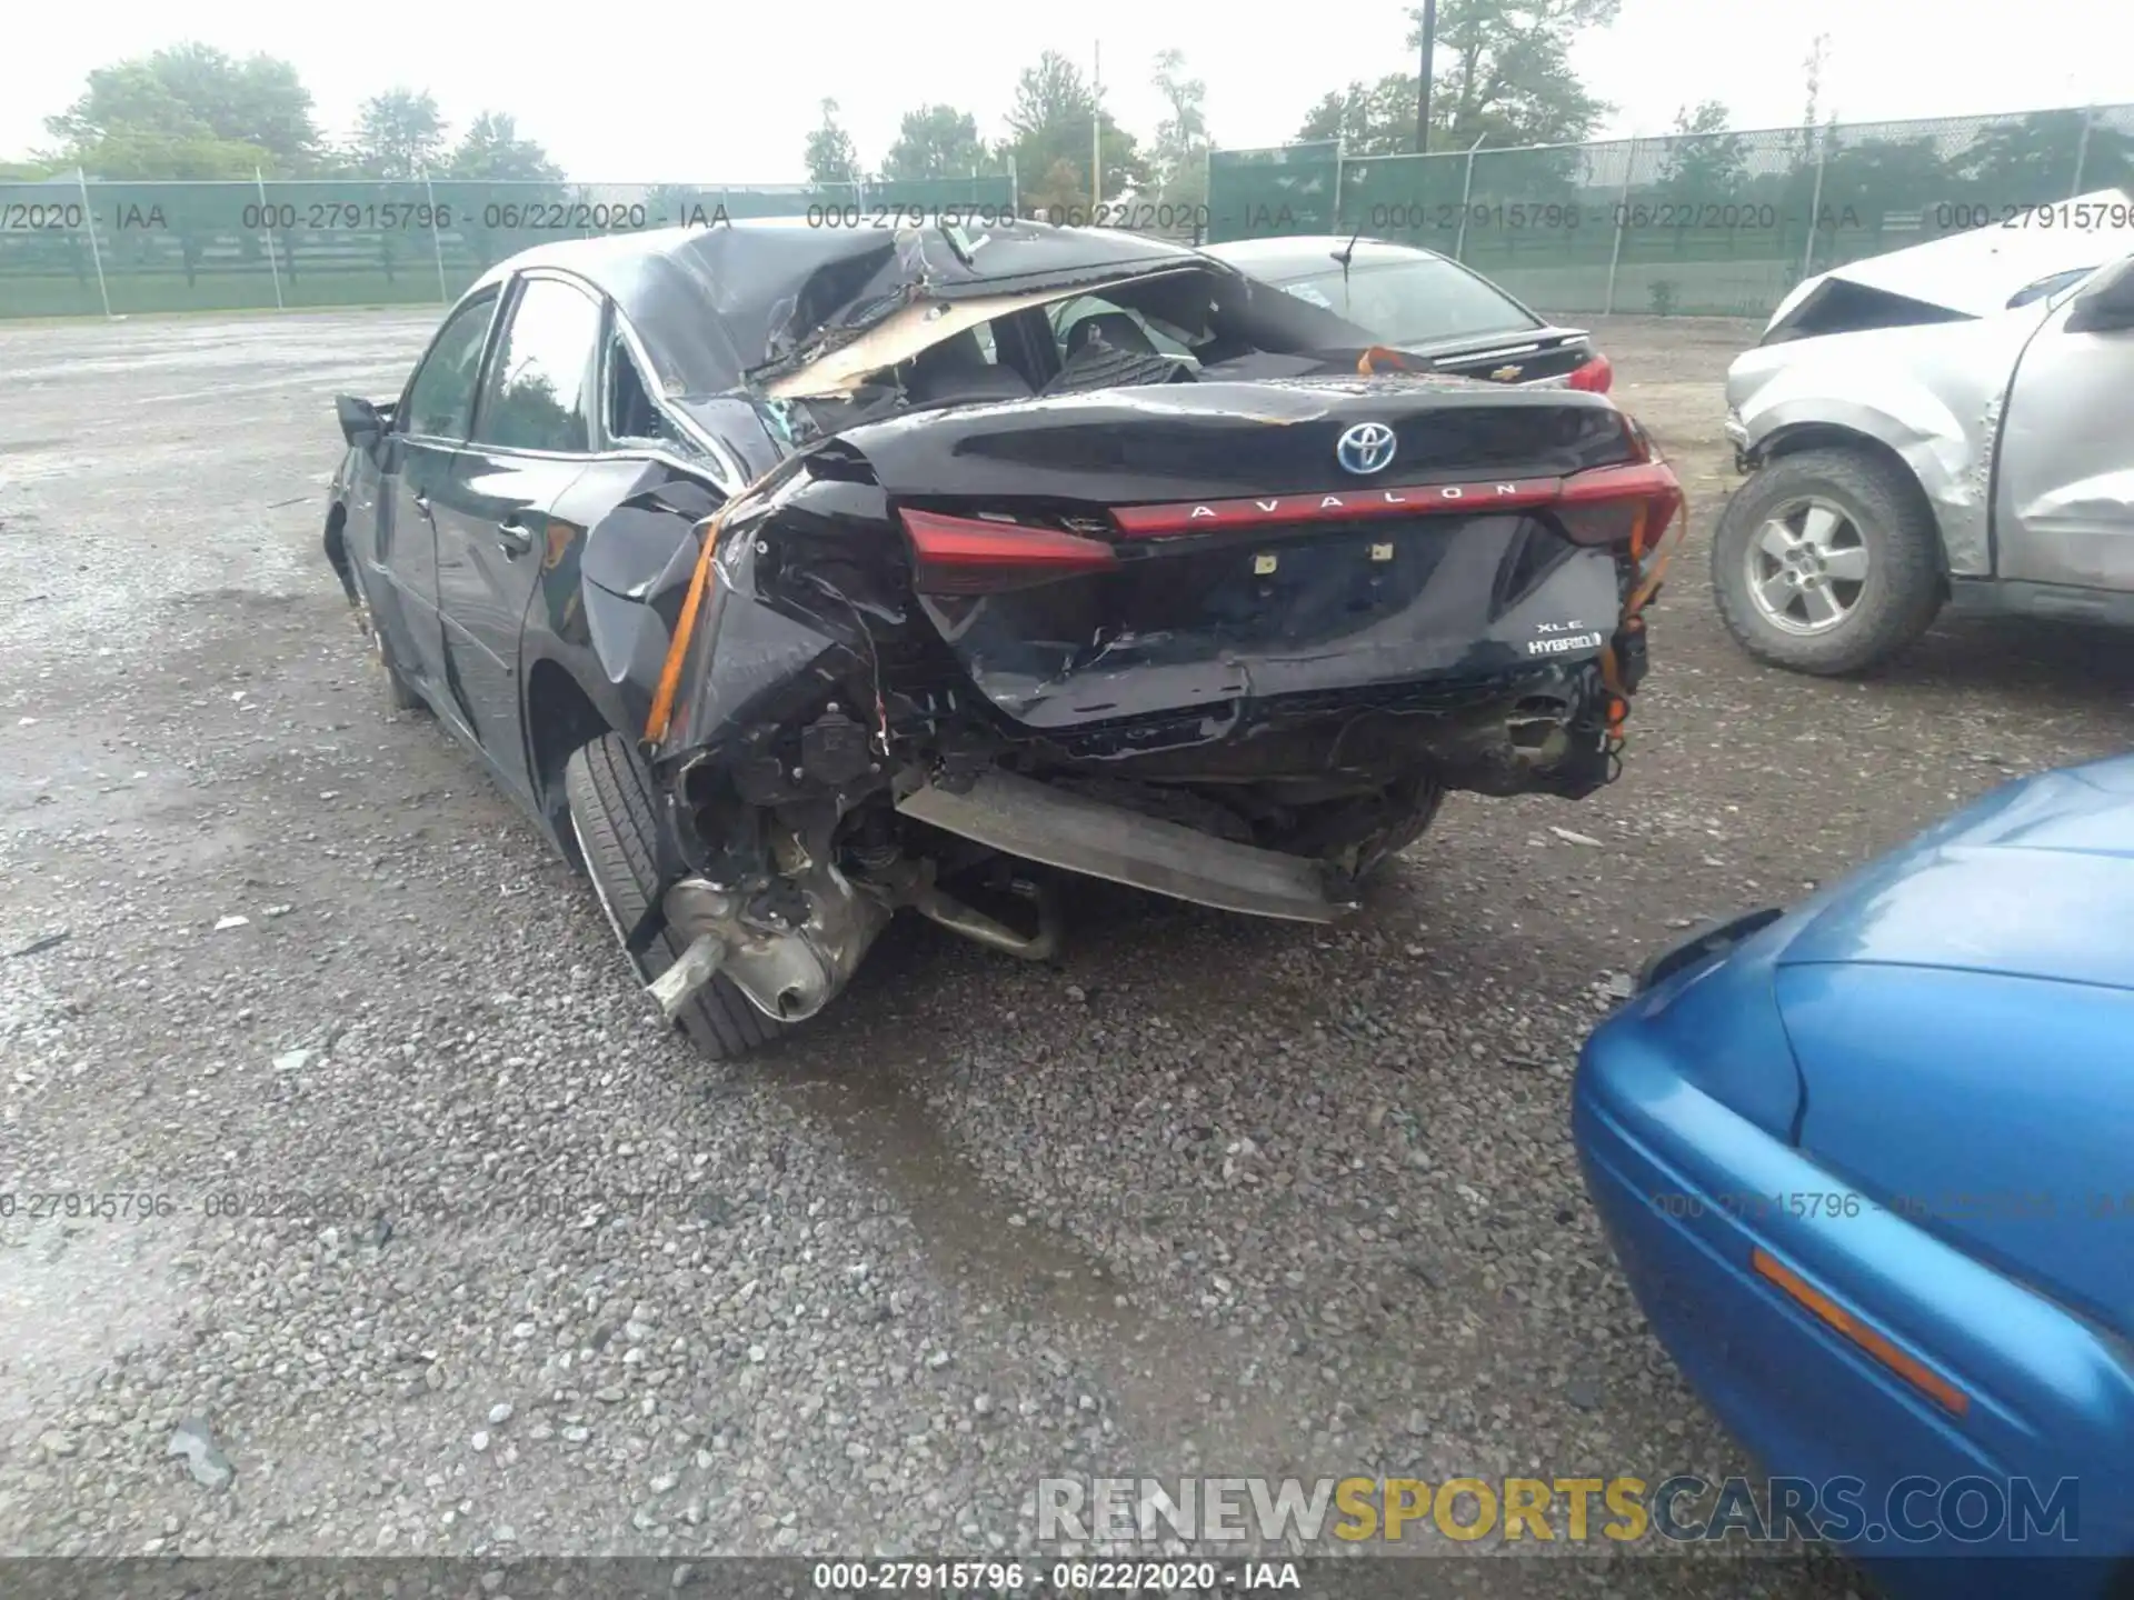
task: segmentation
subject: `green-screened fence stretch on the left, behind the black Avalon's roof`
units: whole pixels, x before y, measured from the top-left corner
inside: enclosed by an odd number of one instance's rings
[[[467,181],[0,183],[0,318],[425,305],[551,239],[807,218],[988,222],[1016,179],[644,186]]]

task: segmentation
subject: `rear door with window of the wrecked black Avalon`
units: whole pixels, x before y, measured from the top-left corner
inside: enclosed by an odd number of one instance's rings
[[[548,510],[593,448],[602,305],[570,277],[512,284],[474,431],[433,497],[446,689],[497,772],[534,791],[519,631],[548,548]]]

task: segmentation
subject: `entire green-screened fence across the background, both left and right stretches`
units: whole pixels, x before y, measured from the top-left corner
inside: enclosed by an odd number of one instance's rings
[[[2134,105],[1344,160],[1219,149],[1208,237],[1366,233],[1562,314],[1767,316],[1801,277],[2134,183]],[[986,220],[1014,177],[883,186],[0,183],[0,318],[416,305],[542,239],[807,215]]]

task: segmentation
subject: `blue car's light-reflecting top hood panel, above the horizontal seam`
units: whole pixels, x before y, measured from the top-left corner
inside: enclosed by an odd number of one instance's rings
[[[2134,988],[2134,755],[1993,789],[1833,885],[1778,956],[1822,962]]]

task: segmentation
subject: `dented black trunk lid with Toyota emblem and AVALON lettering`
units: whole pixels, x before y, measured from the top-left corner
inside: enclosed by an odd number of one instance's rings
[[[1592,659],[1622,610],[1607,535],[1635,493],[1654,514],[1673,493],[1603,397],[1415,375],[1099,390],[843,439],[962,670],[1048,732]]]

